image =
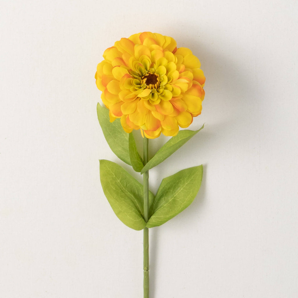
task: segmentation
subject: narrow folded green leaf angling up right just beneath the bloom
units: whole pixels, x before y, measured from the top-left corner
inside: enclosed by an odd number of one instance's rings
[[[195,134],[197,134],[204,125],[197,131],[191,131],[188,129],[181,130],[176,136],[170,138],[163,146],[160,148],[156,154],[149,160],[149,162],[143,167],[141,174],[157,166],[165,159],[167,159],[171,154],[178,150],[182,145],[184,145],[189,139],[191,139]]]

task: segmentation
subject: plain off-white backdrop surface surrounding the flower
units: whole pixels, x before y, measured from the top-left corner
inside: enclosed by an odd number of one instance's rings
[[[150,298],[298,293],[297,1],[1,1],[0,296],[142,297],[142,231],[103,195],[103,51],[142,31],[201,60],[205,128],[150,171],[203,164],[193,204],[150,229]],[[152,153],[166,142],[150,142]],[[139,175],[133,174],[141,181]]]

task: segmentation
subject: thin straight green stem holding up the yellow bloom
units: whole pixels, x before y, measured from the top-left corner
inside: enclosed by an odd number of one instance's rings
[[[143,141],[144,165],[148,162],[148,139],[144,136]],[[144,195],[144,219],[149,219],[149,171],[143,174],[143,195]],[[149,229],[144,228],[144,298],[149,298]]]

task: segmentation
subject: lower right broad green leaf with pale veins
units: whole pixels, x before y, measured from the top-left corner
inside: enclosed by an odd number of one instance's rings
[[[149,210],[146,226],[160,226],[188,207],[197,195],[203,166],[191,167],[164,178]]]

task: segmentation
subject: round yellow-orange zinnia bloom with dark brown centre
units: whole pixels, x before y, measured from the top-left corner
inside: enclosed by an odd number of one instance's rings
[[[158,33],[121,38],[103,53],[96,85],[110,121],[123,129],[140,129],[149,139],[178,134],[201,114],[205,77],[190,49]]]

